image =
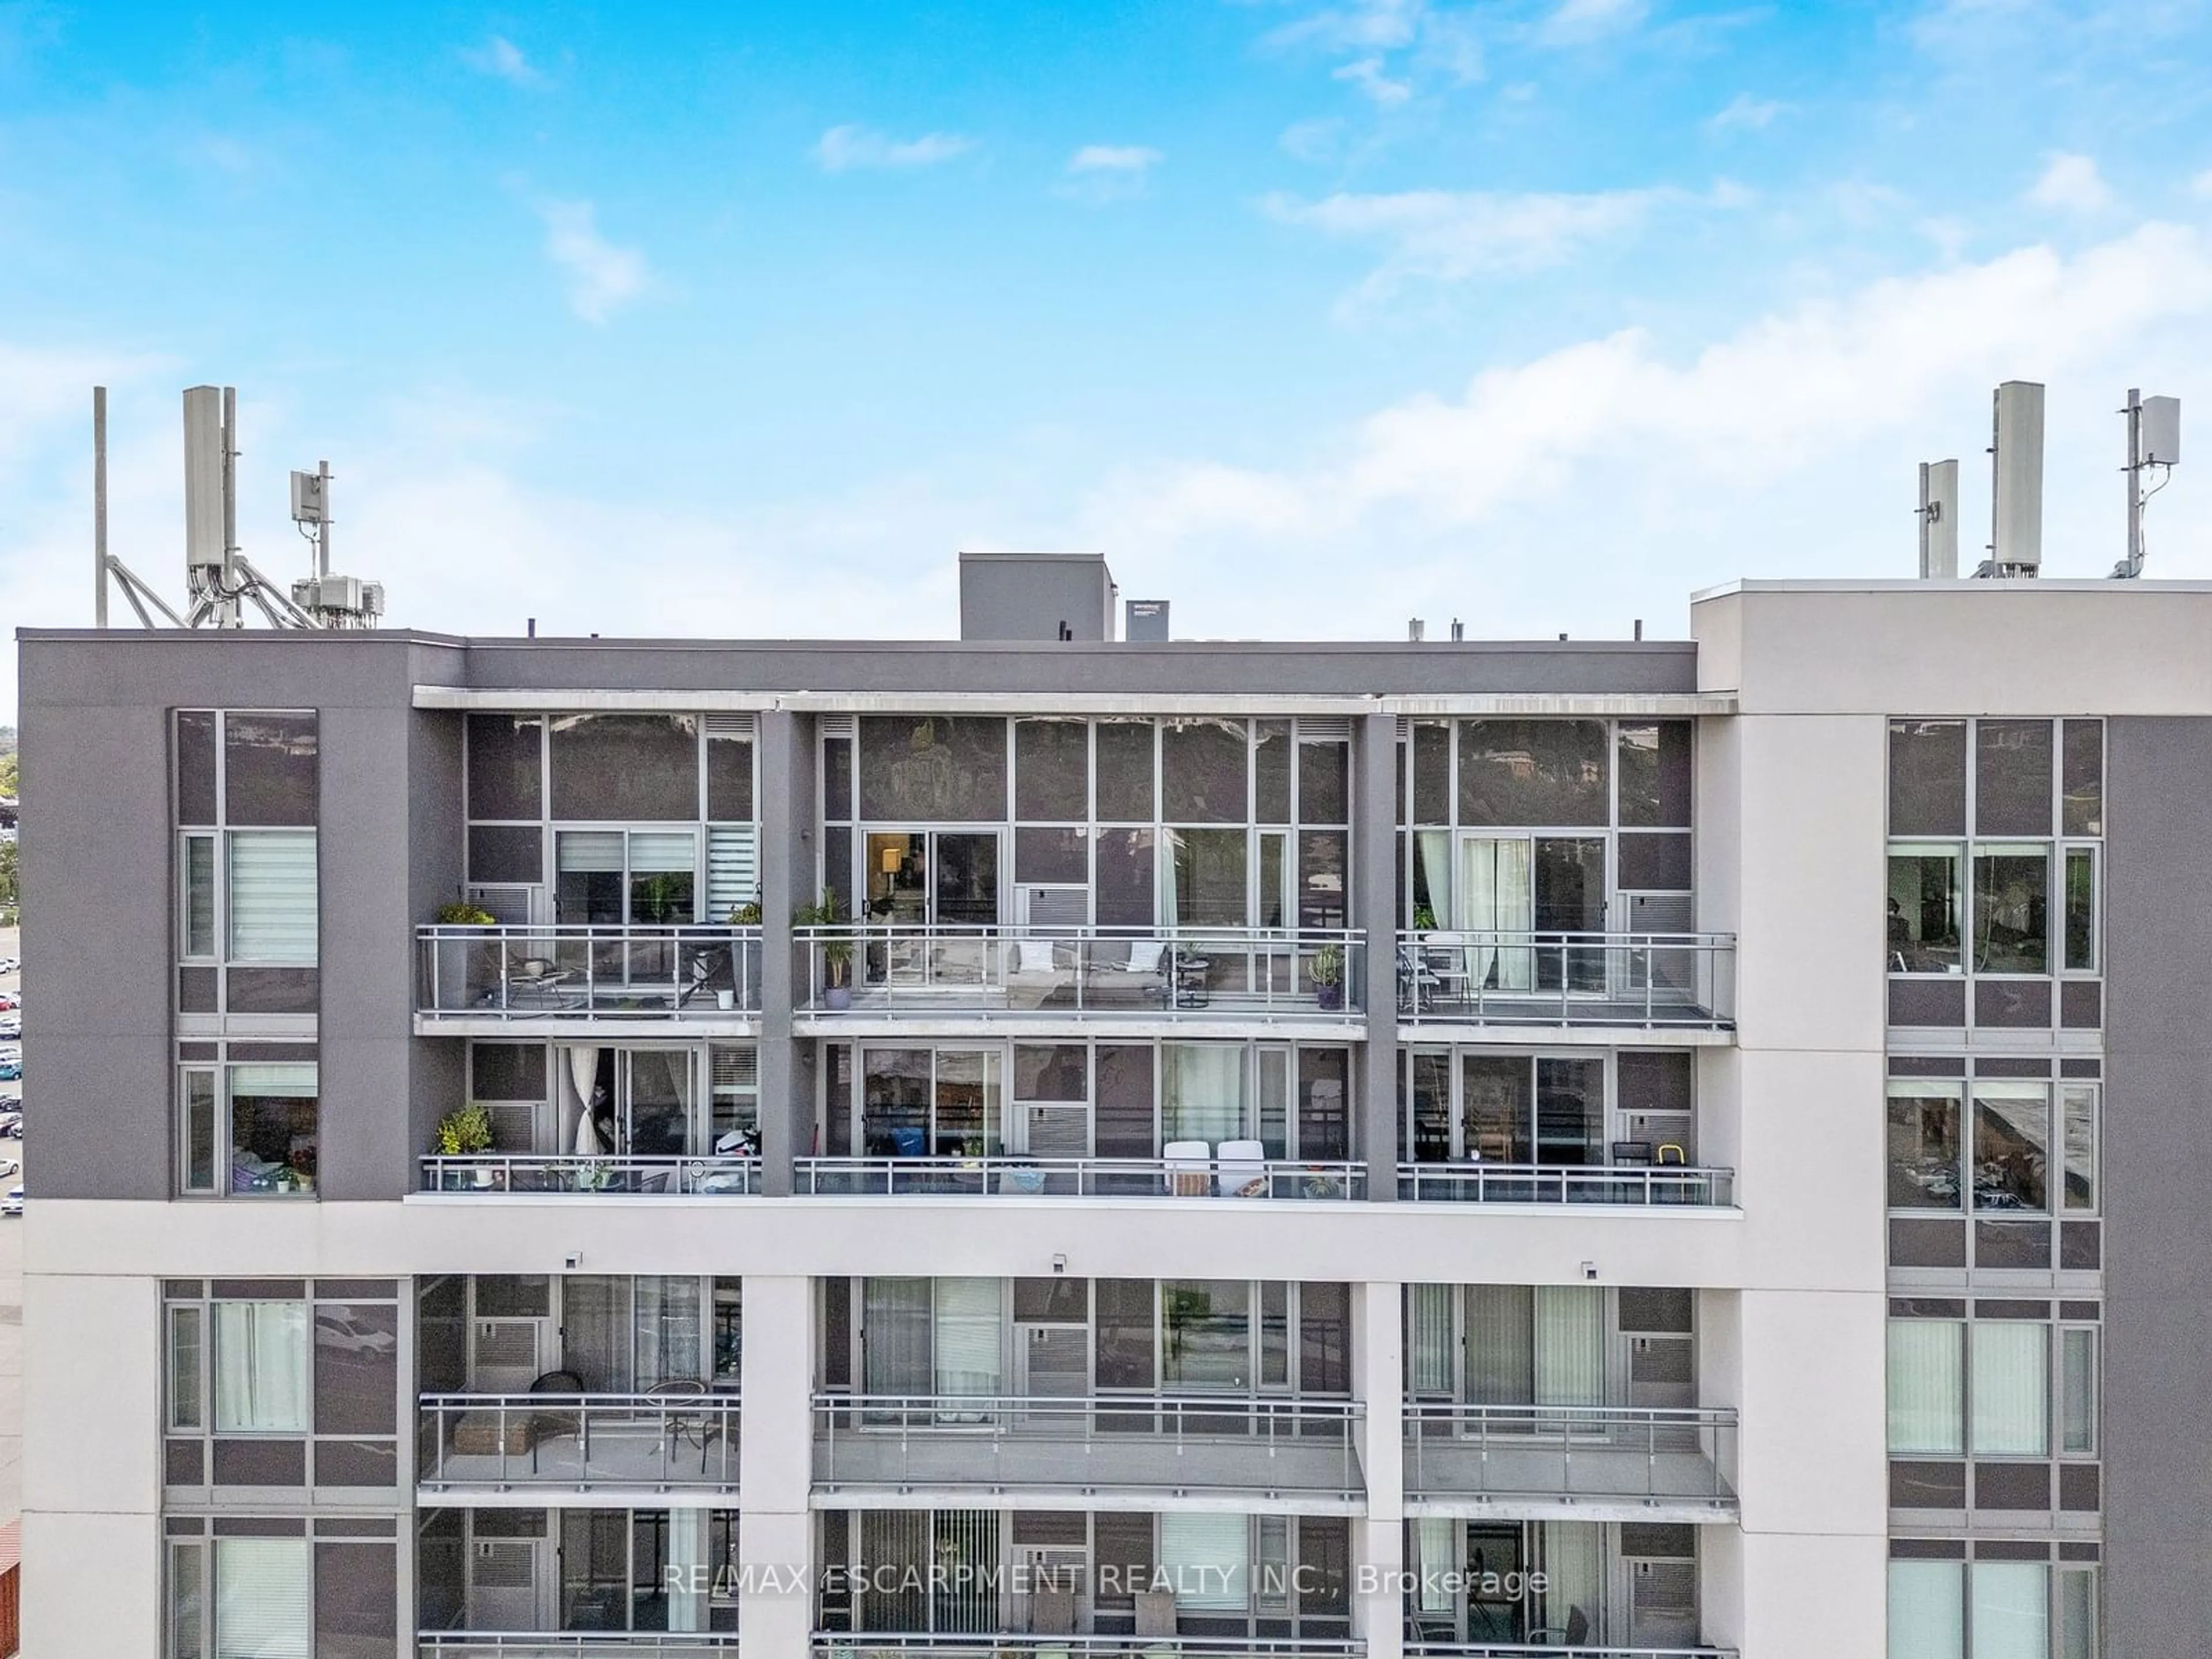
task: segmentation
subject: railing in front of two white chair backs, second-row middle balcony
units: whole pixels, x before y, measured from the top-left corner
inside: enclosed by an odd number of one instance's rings
[[[1367,1166],[1347,1159],[1206,1157],[803,1157],[801,1197],[1365,1199]],[[1234,1190],[1223,1190],[1230,1183]],[[1263,1190],[1248,1190],[1263,1186]]]

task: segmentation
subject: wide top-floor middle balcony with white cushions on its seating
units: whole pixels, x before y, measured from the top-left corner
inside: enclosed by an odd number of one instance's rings
[[[1354,929],[801,927],[801,1013],[816,1029],[916,1020],[1115,1020],[1358,1026],[1367,945]]]

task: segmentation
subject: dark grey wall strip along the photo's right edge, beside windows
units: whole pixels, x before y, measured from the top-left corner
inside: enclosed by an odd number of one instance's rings
[[[2106,726],[2106,1655],[2212,1628],[2212,719]]]

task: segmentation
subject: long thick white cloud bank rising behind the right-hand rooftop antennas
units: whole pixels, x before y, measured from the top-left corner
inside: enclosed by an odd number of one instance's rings
[[[1307,553],[1391,546],[1398,615],[1422,549],[1455,553],[1462,604],[1502,577],[1562,611],[1584,604],[1568,571],[1639,584],[1657,560],[1672,560],[1672,604],[1743,568],[1902,575],[1911,462],[1978,449],[1989,387],[2024,376],[2053,385],[2053,557],[2101,575],[2101,387],[2126,385],[2119,363],[2188,361],[2177,345],[2201,349],[2208,323],[2212,246],[2197,230],[2152,223],[2073,259],[2020,248],[1761,316],[1690,354],[1621,330],[1486,367],[1458,396],[1369,414],[1305,467],[1130,469],[1093,498],[1082,544],[1146,549],[1161,568],[1190,549],[1272,549],[1287,588],[1325,580]],[[1467,571],[1475,526],[1482,564]],[[2212,531],[2177,515],[2168,535],[2166,573],[2212,562]],[[1513,566],[1520,546],[1540,564]],[[1234,591],[1234,571],[1221,580]]]

